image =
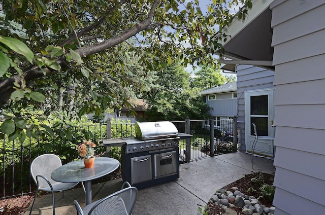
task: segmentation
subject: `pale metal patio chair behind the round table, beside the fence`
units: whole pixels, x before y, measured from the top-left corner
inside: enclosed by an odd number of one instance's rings
[[[34,179],[37,190],[35,193],[34,200],[32,201],[29,214],[31,214],[32,207],[34,206],[35,199],[39,190],[51,192],[53,201],[53,215],[55,214],[55,202],[54,202],[54,192],[69,190],[75,187],[78,183],[61,183],[55,182],[51,178],[51,173],[57,167],[62,166],[61,159],[53,154],[40,155],[31,162],[30,174]],[[63,198],[62,192],[62,198]]]

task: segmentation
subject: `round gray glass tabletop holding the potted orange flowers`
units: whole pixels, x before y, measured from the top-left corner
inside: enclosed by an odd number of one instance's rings
[[[73,161],[56,168],[51,178],[57,182],[84,182],[113,172],[120,165],[114,158],[95,158],[93,167],[85,168],[83,160]]]

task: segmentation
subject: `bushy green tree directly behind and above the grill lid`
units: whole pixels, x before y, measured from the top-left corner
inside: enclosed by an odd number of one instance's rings
[[[146,95],[150,121],[208,118],[209,106],[201,100],[199,89],[190,87],[188,74],[180,60],[175,60],[166,69],[156,73],[158,77]]]

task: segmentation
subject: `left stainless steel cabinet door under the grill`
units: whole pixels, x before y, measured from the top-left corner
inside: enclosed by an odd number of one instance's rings
[[[131,158],[131,184],[146,182],[151,179],[151,155]]]

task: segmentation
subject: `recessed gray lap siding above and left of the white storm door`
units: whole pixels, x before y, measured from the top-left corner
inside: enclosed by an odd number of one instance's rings
[[[274,72],[253,65],[237,65],[237,128],[240,129],[240,151],[245,151],[245,100],[244,93],[247,90],[273,88]]]

